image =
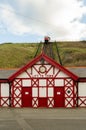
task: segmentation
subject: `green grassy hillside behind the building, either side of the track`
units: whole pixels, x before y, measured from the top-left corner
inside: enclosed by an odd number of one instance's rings
[[[41,44],[41,43],[40,43]],[[63,66],[86,66],[86,42],[56,42]],[[19,68],[33,59],[38,43],[0,44],[0,68]],[[59,62],[53,43],[55,60]],[[41,51],[41,50],[40,50]],[[40,53],[38,52],[38,54]]]

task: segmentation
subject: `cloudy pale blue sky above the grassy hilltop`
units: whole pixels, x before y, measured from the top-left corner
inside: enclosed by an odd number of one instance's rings
[[[86,0],[0,0],[0,43],[86,40]]]

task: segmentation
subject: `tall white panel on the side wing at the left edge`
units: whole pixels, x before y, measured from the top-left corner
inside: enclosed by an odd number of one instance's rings
[[[9,84],[1,83],[1,97],[8,97],[8,96],[9,96]]]

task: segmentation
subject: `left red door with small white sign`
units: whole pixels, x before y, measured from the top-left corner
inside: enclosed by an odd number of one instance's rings
[[[32,107],[32,89],[22,88],[22,107]]]

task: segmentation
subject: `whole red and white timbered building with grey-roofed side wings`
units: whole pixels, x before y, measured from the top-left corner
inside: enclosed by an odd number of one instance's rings
[[[44,53],[19,70],[0,70],[0,107],[86,107],[86,69],[81,77],[77,70]]]

